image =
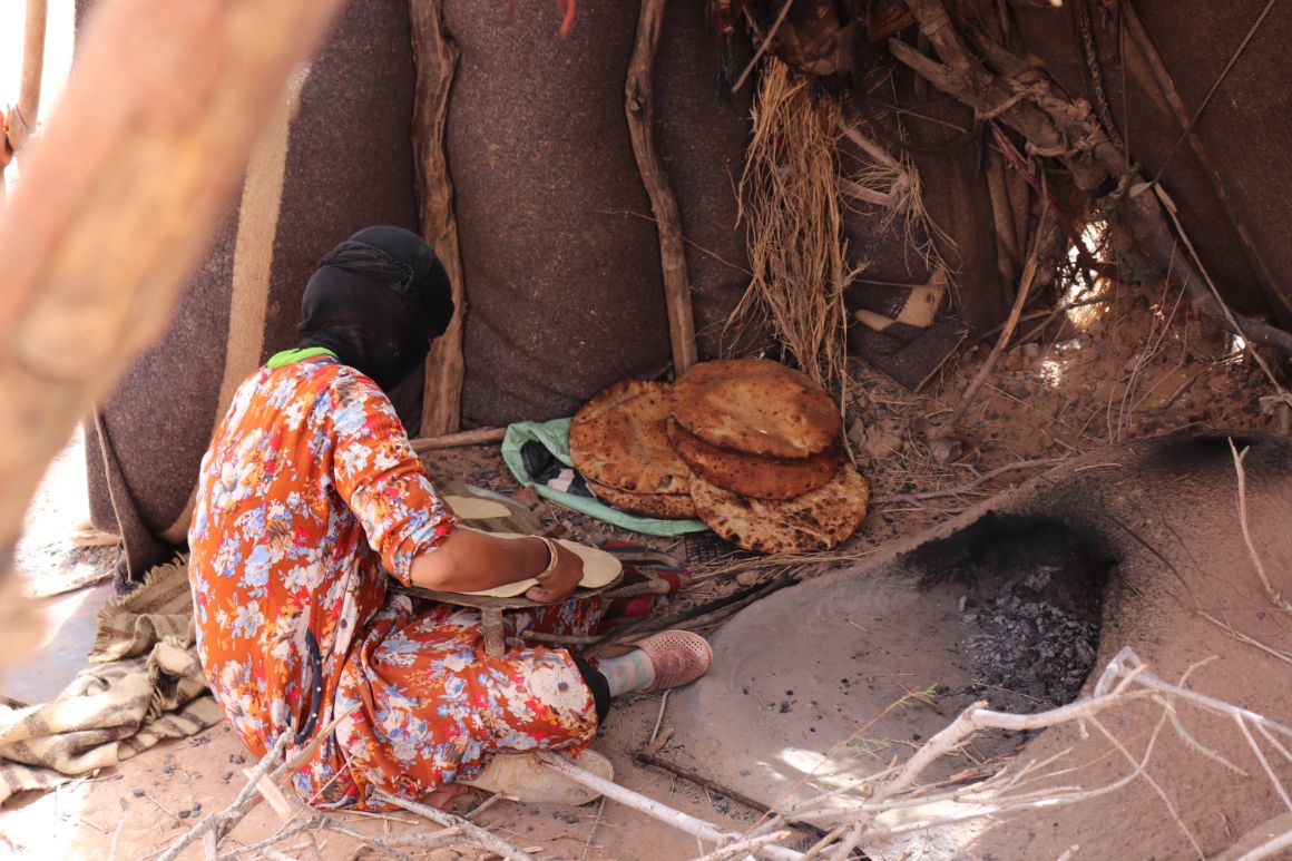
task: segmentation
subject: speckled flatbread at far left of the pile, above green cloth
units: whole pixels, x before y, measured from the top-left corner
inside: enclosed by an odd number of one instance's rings
[[[668,442],[672,385],[623,380],[583,405],[570,421],[570,459],[602,485],[634,494],[687,493],[690,471]]]

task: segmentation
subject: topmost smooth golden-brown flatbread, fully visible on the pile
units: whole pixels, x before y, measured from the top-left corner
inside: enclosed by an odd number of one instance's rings
[[[693,366],[673,385],[673,415],[709,445],[775,458],[820,454],[842,429],[826,389],[758,358]]]

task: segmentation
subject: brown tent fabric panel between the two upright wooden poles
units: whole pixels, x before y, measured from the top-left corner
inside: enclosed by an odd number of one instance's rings
[[[461,49],[448,111],[468,300],[463,414],[571,415],[669,365],[655,226],[624,120],[638,4],[549,10],[444,4]],[[638,215],[629,215],[638,213]]]

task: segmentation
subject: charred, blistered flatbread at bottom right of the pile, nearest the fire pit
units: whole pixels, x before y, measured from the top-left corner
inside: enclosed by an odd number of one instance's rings
[[[782,502],[745,499],[691,476],[695,513],[714,533],[757,553],[806,553],[833,549],[848,540],[866,516],[866,480],[844,463],[824,485]]]

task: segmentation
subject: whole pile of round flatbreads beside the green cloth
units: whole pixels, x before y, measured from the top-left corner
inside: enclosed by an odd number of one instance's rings
[[[866,516],[829,396],[766,359],[696,365],[676,385],[624,380],[570,425],[570,456],[603,502],[699,517],[744,549],[832,549]]]

